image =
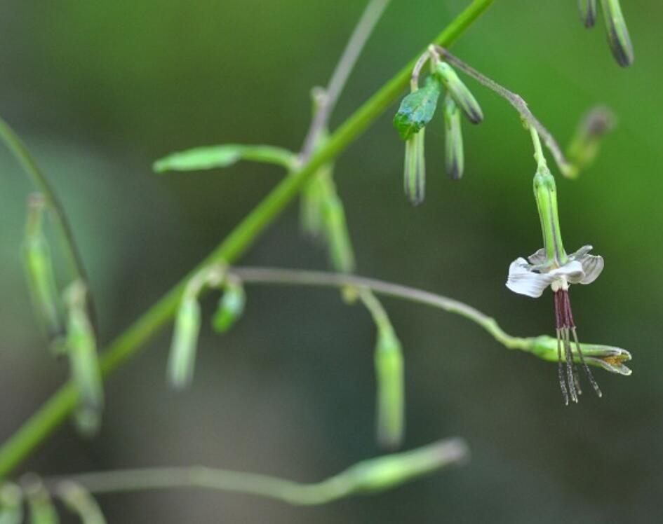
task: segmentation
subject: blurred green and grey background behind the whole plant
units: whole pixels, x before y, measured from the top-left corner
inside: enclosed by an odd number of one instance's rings
[[[333,124],[363,102],[469,0],[393,0]],[[565,408],[556,366],[510,354],[463,319],[385,301],[407,355],[408,448],[464,436],[471,462],[369,498],[316,509],[217,492],[101,499],[110,522],[623,523],[663,519],[663,74],[654,0],[624,0],[636,49],[617,67],[603,27],[576,2],[500,0],[455,53],[528,100],[566,142],[597,102],[619,117],[598,162],[558,179],[569,250],[594,244],[605,271],[574,289],[582,340],[631,350],[630,378],[597,371],[603,399]],[[74,224],[111,340],[197,263],[281,177],[152,174],[173,150],[221,142],[298,149],[309,90],[326,83],[364,1],[5,0],[0,112],[24,137]],[[640,11],[638,11],[638,8]],[[381,118],[337,163],[359,273],[466,301],[509,333],[554,329],[550,294],[504,287],[509,263],[540,247],[535,164],[516,113],[475,87],[485,123],[466,126],[462,183],[443,174],[443,125],[428,133],[429,188],[402,194],[403,147]],[[394,108],[395,110],[395,108]],[[29,185],[0,151],[0,439],[67,374],[32,317],[19,246]],[[242,263],[325,268],[298,235],[296,207]],[[206,303],[208,308],[213,302]],[[335,291],[249,290],[229,335],[203,331],[194,387],[169,392],[169,329],[107,384],[98,439],[64,427],[22,471],[168,464],[314,481],[379,453],[373,439],[373,326]]]

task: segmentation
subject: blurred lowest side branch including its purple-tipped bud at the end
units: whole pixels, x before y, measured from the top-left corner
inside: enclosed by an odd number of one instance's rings
[[[44,485],[58,492],[60,485],[75,483],[93,494],[202,488],[257,495],[294,505],[326,504],[349,495],[378,492],[467,460],[462,439],[437,441],[414,450],[363,460],[317,483],[300,483],[262,474],[203,466],[156,467],[99,471],[62,478],[45,478]]]

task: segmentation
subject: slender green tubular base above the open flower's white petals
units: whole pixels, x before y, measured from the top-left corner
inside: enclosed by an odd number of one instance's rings
[[[543,247],[546,251],[547,263],[563,266],[568,261],[557,213],[557,188],[555,178],[545,165],[540,165],[534,177],[534,196],[537,201]]]

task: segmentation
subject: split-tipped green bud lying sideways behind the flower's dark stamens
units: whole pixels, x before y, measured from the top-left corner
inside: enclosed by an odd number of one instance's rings
[[[531,347],[533,354],[544,360],[551,362],[557,361],[557,339],[551,336],[539,336],[536,338],[525,339],[528,346]],[[580,362],[580,355],[577,347],[571,345],[572,355],[575,362]],[[622,350],[621,347],[601,344],[580,343],[580,350],[584,356],[584,361],[592,366],[598,366],[610,373],[620,375],[630,375],[631,370],[624,364],[631,360],[631,353]]]

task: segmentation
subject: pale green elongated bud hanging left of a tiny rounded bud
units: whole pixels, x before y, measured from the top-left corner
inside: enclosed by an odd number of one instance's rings
[[[192,381],[200,324],[200,304],[195,295],[185,294],[175,317],[175,331],[168,356],[168,381],[175,389],[185,389]]]

